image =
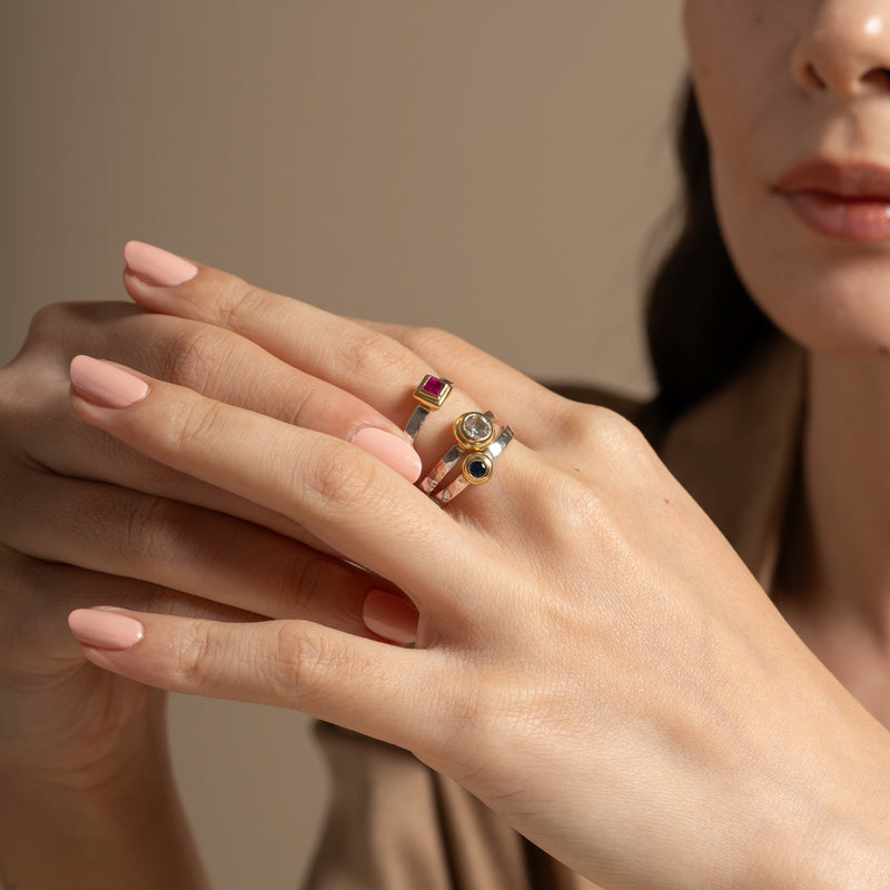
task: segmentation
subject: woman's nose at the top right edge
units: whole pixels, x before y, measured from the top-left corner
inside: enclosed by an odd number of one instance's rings
[[[811,6],[791,59],[798,85],[842,99],[890,96],[890,1],[822,0]]]

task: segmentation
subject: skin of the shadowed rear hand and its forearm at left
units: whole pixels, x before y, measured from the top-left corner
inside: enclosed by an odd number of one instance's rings
[[[42,310],[0,372],[0,876],[8,887],[202,887],[162,695],[87,663],[66,615],[115,602],[227,621],[299,615],[372,635],[362,603],[386,585],[319,553],[285,516],[85,427],[68,396],[82,350],[339,437],[397,427],[346,395],[316,387],[313,403],[304,377],[243,337],[126,304]],[[210,379],[211,367],[227,373]]]

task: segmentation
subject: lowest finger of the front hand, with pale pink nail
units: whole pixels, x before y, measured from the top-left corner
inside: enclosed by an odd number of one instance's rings
[[[100,668],[172,692],[294,708],[416,750],[441,715],[442,657],[301,621],[231,624],[79,610],[69,625]],[[453,679],[453,678],[452,678]]]

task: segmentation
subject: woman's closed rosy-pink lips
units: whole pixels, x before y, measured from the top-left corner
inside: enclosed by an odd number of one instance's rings
[[[808,160],[782,174],[773,190],[819,235],[843,241],[890,240],[890,168]]]

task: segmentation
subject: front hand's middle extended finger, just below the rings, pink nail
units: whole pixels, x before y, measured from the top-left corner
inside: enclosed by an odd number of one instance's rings
[[[86,356],[71,363],[71,382],[85,421],[155,461],[290,516],[409,595],[441,562],[446,533],[457,547],[469,534],[347,443]]]

